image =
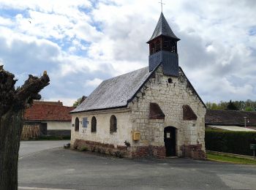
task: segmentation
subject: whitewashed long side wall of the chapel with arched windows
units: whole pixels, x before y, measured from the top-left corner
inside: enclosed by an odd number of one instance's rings
[[[115,147],[117,147],[117,145],[124,146],[125,140],[127,140],[127,142],[132,141],[132,123],[130,122],[130,114],[131,111],[127,108],[73,113],[71,143],[73,144],[77,139],[112,144]],[[112,134],[110,133],[111,115],[115,115],[117,120],[117,131]],[[93,116],[97,119],[97,132],[91,132],[91,118]],[[79,121],[83,121],[83,118],[87,118],[87,121],[89,121],[87,128],[83,128],[83,123],[79,123],[79,132],[75,132],[76,117],[79,118]]]

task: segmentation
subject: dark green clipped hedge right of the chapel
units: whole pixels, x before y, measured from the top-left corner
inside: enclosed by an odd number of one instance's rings
[[[206,150],[253,156],[250,144],[256,144],[256,132],[206,130]]]

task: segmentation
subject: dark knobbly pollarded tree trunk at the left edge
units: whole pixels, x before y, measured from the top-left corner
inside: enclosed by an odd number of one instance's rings
[[[48,86],[49,77],[29,75],[24,85],[15,89],[14,75],[0,66],[0,189],[18,189],[18,151],[23,129],[23,113],[39,91]]]

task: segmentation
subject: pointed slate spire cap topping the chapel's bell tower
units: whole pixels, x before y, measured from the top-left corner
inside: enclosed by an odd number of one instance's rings
[[[157,26],[154,29],[154,33],[152,34],[152,37],[148,40],[148,42],[150,42],[152,39],[155,39],[156,37],[159,37],[161,35],[180,40],[173,33],[172,29],[170,28],[169,24],[167,23],[167,20],[165,19],[165,16],[164,16],[164,14],[162,14],[162,12],[161,12],[160,18],[157,22]]]

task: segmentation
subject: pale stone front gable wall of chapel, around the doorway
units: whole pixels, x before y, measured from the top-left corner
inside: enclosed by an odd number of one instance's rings
[[[164,75],[162,67],[159,66],[155,75],[129,103],[129,108],[132,110],[132,130],[140,132],[140,140],[132,142],[132,147],[165,147],[164,129],[166,126],[173,126],[176,128],[176,155],[193,158],[198,155],[198,159],[202,159],[201,155],[205,153],[204,118],[206,108],[200,102],[185,75],[181,71],[179,74],[179,77]],[[172,83],[168,83],[169,78]],[[164,119],[148,117],[151,102],[159,105],[165,114]],[[196,120],[184,120],[182,108],[184,105],[189,105],[192,108],[197,115]],[[203,153],[200,153],[200,156],[198,153],[193,154],[189,148],[183,148],[187,145],[200,145],[197,146],[197,150]],[[148,154],[150,154],[151,149],[148,150]]]

